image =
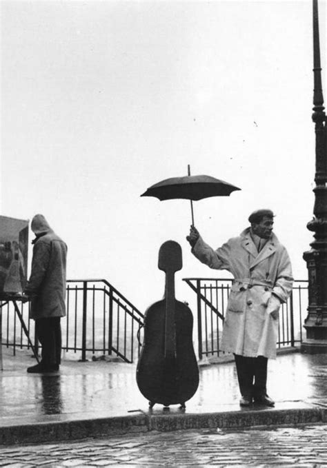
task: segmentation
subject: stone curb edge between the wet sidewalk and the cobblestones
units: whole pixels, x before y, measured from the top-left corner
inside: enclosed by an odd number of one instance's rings
[[[101,438],[148,431],[181,429],[245,429],[249,427],[293,426],[327,423],[327,409],[257,409],[207,414],[135,414],[88,420],[7,425],[0,427],[0,445],[21,445]]]

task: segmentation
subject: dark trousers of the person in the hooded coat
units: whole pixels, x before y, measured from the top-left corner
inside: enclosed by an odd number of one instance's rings
[[[37,318],[35,331],[42,347],[42,361],[46,366],[61,363],[61,326],[60,317]]]

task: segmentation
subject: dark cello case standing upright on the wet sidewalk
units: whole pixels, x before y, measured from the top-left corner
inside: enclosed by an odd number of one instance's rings
[[[164,298],[146,310],[144,340],[137,364],[141,394],[165,407],[192,398],[199,385],[199,368],[192,343],[193,316],[175,299],[175,272],[182,267],[181,246],[167,241],[159,250],[159,269],[166,273]]]

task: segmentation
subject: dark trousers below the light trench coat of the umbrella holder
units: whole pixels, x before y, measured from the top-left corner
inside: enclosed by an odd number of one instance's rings
[[[266,395],[268,358],[247,358],[239,354],[234,356],[241,395],[246,398]]]

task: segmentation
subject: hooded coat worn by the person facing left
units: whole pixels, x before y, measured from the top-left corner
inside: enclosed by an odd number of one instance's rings
[[[34,239],[32,268],[24,292],[32,296],[31,318],[63,317],[66,315],[67,245],[54,234],[46,218],[36,214],[31,228]]]

